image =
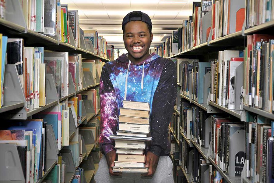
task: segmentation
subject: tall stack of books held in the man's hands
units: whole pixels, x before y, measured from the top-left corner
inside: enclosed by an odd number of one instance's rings
[[[123,101],[120,108],[119,131],[110,135],[115,140],[117,161],[114,161],[113,172],[147,173],[144,149],[149,133],[149,103]]]

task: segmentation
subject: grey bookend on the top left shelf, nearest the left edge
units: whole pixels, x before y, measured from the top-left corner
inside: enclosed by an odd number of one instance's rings
[[[25,27],[23,33],[27,33],[26,21],[23,14],[22,5],[19,0],[6,1],[6,20]]]

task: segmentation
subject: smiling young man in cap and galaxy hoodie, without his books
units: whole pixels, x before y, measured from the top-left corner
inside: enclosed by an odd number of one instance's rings
[[[95,175],[97,183],[153,182],[173,183],[169,158],[168,125],[176,98],[175,64],[152,53],[152,23],[141,11],[128,13],[122,22],[123,39],[128,54],[104,65],[100,78],[101,135],[100,149],[105,156]],[[145,166],[149,173],[142,178],[121,178],[112,172],[116,153],[114,140],[119,107],[123,100],[148,102],[151,109],[150,133],[153,140],[146,149]]]

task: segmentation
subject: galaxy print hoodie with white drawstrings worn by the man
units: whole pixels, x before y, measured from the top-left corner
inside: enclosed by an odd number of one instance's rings
[[[100,78],[101,135],[100,149],[104,154],[114,150],[123,100],[148,102],[150,105],[149,150],[157,156],[169,155],[168,125],[176,100],[176,69],[170,59],[152,53],[134,64],[126,54],[103,66]]]

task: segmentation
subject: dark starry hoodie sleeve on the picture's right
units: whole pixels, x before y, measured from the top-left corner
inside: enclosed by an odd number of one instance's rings
[[[168,126],[176,100],[176,69],[171,60],[166,61],[156,91],[151,111],[151,147],[150,152],[160,156],[167,149]],[[163,152],[165,154],[165,152]]]

